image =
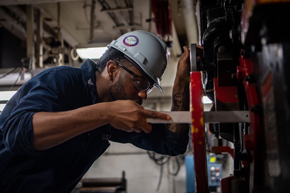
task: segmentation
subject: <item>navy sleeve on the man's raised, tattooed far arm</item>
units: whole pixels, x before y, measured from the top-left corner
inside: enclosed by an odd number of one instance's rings
[[[165,124],[152,124],[150,133],[126,132],[115,129],[110,141],[131,143],[139,148],[154,151],[162,155],[176,156],[184,154],[189,141],[189,130],[177,134],[165,127]]]

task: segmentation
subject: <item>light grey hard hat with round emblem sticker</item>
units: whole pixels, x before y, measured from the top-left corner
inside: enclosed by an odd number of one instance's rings
[[[167,66],[167,45],[164,41],[150,32],[139,30],[122,35],[107,47],[124,53],[162,91],[160,79]]]

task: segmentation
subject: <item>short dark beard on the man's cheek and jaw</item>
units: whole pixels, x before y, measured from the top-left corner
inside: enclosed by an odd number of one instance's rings
[[[110,86],[109,88],[109,100],[115,101],[115,100],[126,100],[126,92],[122,84],[123,78],[119,77],[119,79]]]

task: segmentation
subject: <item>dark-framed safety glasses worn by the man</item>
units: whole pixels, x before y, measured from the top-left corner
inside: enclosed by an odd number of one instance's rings
[[[122,67],[124,70],[126,70],[127,72],[129,72],[132,76],[130,77],[130,80],[132,81],[132,83],[134,84],[134,86],[139,89],[140,91],[147,91],[147,94],[150,93],[152,91],[152,89],[154,88],[147,80],[145,80],[144,78],[142,78],[141,76],[135,74],[134,72],[132,72],[131,70],[129,70],[128,68],[120,65],[119,63],[117,63],[115,61],[115,63],[117,65],[119,65],[120,67]]]

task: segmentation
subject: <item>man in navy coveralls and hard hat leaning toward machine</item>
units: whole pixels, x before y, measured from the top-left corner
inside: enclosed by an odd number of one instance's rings
[[[99,63],[47,69],[24,84],[0,115],[0,192],[71,192],[109,141],[183,154],[188,124],[141,105],[166,69],[166,44],[134,31],[108,45]],[[189,111],[189,49],[177,64],[172,110]],[[108,136],[105,139],[103,135]]]

